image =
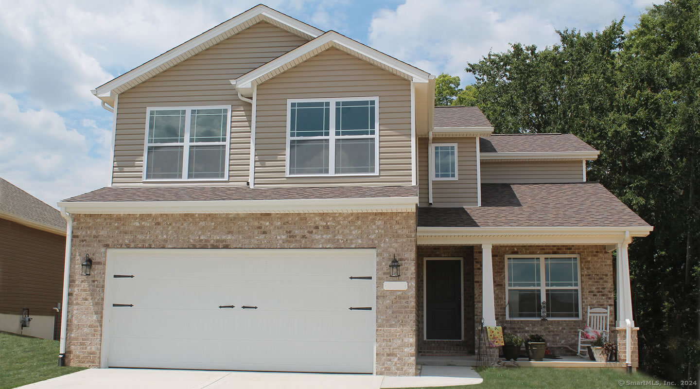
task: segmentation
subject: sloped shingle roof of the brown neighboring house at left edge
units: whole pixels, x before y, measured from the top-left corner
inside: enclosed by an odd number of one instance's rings
[[[0,218],[54,234],[66,234],[66,219],[52,206],[0,178]]]

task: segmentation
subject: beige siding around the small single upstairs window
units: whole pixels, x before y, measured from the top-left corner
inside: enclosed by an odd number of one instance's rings
[[[457,181],[433,181],[433,206],[477,206],[477,146],[475,138],[433,138],[433,145],[457,143]],[[430,169],[428,139],[418,140],[418,197],[428,206]]]

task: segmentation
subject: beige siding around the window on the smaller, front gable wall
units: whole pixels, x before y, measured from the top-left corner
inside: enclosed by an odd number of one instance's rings
[[[411,185],[411,91],[404,78],[330,48],[258,85],[255,185]],[[379,176],[286,177],[287,99],[379,97]]]

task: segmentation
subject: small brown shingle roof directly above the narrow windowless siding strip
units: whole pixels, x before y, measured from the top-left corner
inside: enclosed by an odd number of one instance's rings
[[[574,134],[494,134],[479,139],[481,153],[595,151]]]

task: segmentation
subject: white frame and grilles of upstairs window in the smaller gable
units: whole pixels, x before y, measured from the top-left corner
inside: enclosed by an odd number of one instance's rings
[[[374,101],[374,135],[336,135],[335,134],[335,103],[337,101]],[[290,120],[292,103],[330,103],[330,117],[328,122],[328,136],[290,136]],[[317,99],[287,99],[287,126],[286,126],[286,177],[335,177],[335,176],[379,176],[379,97],[333,97]],[[328,173],[327,174],[290,174],[289,145],[291,141],[313,141],[314,139],[328,140]],[[335,173],[335,139],[374,139],[374,172],[373,173]]]

